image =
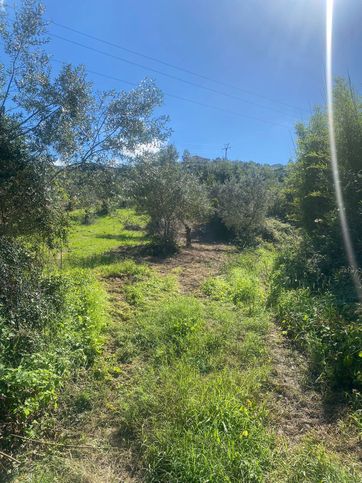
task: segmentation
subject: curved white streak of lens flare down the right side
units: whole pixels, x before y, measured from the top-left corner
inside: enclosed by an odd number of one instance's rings
[[[334,110],[333,110],[333,13],[334,0],[327,0],[326,11],[326,80],[327,80],[327,108],[328,108],[328,131],[329,145],[331,151],[331,165],[333,173],[334,191],[337,200],[339,220],[342,229],[343,242],[351,269],[353,282],[356,287],[359,301],[362,302],[362,284],[359,277],[358,265],[353,250],[352,240],[350,236],[346,210],[343,201],[343,193],[341,188],[341,180],[338,169],[338,155],[336,147],[336,136],[334,126]]]

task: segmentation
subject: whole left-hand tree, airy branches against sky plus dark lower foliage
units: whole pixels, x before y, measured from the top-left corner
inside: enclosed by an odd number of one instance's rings
[[[49,239],[63,220],[52,209],[62,176],[114,166],[167,136],[167,119],[153,117],[162,95],[150,80],[130,92],[94,92],[82,66],[54,72],[35,0],[23,0],[14,19],[6,9],[0,15],[0,233]]]

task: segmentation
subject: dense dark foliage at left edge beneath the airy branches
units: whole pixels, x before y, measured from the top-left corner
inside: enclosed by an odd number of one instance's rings
[[[34,156],[17,126],[0,120],[0,236],[36,236],[54,245],[65,236],[59,187],[45,156]]]

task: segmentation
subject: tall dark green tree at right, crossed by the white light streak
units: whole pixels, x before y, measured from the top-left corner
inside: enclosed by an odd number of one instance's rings
[[[302,228],[303,239],[317,257],[326,277],[346,267],[339,209],[347,216],[357,262],[362,240],[362,181],[358,162],[362,145],[361,101],[342,80],[334,88],[334,114],[339,173],[345,207],[337,206],[330,169],[326,113],[317,110],[308,125],[297,127],[297,161],[286,180],[292,221]],[[315,285],[319,280],[314,280]],[[353,290],[353,289],[352,289]]]

